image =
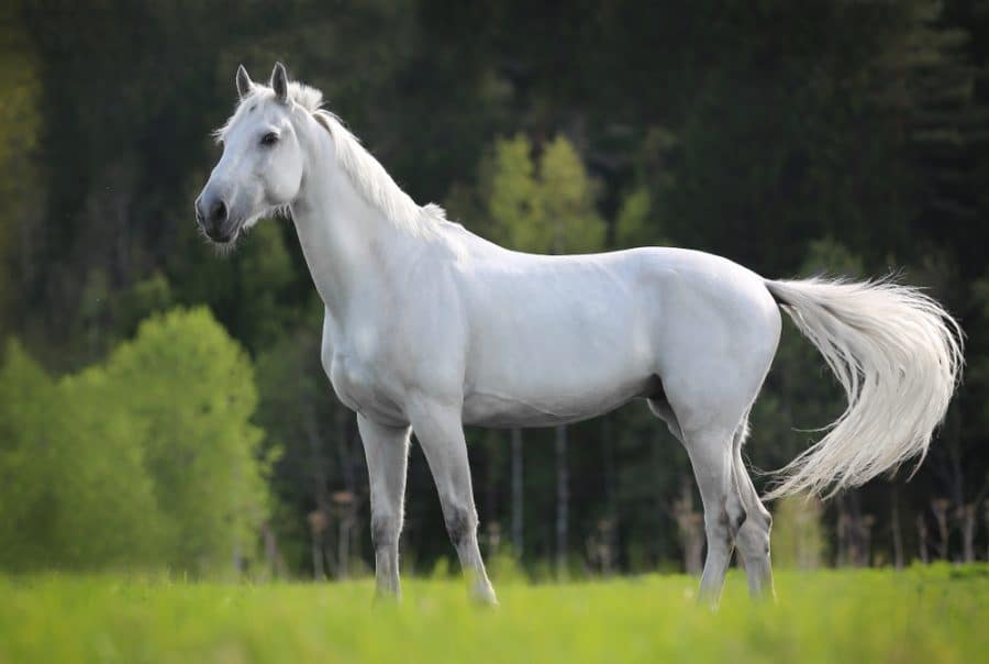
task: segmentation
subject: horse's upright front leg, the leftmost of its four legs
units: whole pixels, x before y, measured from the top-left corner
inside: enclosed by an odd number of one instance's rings
[[[398,543],[404,513],[410,429],[378,424],[360,414],[357,428],[364,442],[370,485],[377,594],[398,598],[401,596]]]

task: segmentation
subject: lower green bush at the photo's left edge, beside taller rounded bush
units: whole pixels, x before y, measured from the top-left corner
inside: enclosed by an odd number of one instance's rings
[[[95,367],[55,381],[8,345],[0,373],[0,566],[166,562],[142,422]]]

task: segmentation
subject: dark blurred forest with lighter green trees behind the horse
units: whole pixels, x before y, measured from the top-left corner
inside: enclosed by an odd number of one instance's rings
[[[508,246],[669,244],[930,288],[967,369],[929,458],[909,483],[780,506],[777,553],[989,555],[989,3],[40,0],[0,19],[4,567],[322,577],[373,560],[291,224],[219,259],[192,221],[236,65],[276,59],[416,201]],[[787,325],[746,446],[767,471],[843,408]],[[468,439],[486,546],[532,574],[697,564],[689,464],[644,405]],[[451,551],[412,454],[402,551],[430,571]]]

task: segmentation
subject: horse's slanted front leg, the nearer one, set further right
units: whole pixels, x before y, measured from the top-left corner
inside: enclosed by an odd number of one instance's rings
[[[446,531],[468,577],[470,595],[481,604],[498,604],[477,544],[477,509],[460,411],[425,402],[410,409],[409,416],[433,473]]]

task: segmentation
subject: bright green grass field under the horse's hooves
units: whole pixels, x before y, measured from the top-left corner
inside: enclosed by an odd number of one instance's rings
[[[978,662],[989,657],[989,566],[777,574],[753,605],[741,574],[718,612],[696,580],[645,576],[463,586],[212,584],[148,577],[0,577],[0,663],[30,662]]]

